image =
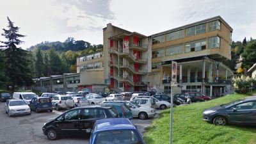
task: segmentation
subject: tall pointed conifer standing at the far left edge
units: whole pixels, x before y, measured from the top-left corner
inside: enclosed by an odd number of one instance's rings
[[[4,54],[6,56],[6,70],[5,74],[10,78],[12,83],[12,92],[15,92],[15,86],[30,86],[32,84],[32,77],[28,68],[29,52],[17,47],[17,45],[23,42],[19,38],[24,37],[24,35],[19,34],[19,27],[13,25],[13,22],[7,17],[8,26],[7,29],[3,29],[4,36],[7,41],[2,42],[0,47],[4,47]]]

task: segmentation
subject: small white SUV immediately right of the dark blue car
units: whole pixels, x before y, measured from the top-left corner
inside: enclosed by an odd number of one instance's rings
[[[52,98],[52,107],[56,108],[57,111],[60,109],[74,108],[74,100],[72,97],[66,95],[55,95]]]

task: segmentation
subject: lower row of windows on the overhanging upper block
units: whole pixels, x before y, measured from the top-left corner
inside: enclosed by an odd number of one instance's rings
[[[204,51],[206,49],[206,40],[198,40],[195,42],[189,42],[185,44],[186,49],[185,52],[193,52],[193,51]],[[171,56],[173,54],[182,54],[184,45],[175,45],[166,47],[165,56]],[[208,47],[212,48],[220,48],[220,37],[214,36],[208,38]],[[152,58],[161,58],[164,56],[164,49],[158,49],[157,51],[152,51]]]

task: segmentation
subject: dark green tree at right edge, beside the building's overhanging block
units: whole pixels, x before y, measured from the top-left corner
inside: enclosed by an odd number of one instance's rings
[[[251,40],[246,44],[242,56],[243,61],[241,67],[248,70],[254,63],[256,63],[256,40]]]

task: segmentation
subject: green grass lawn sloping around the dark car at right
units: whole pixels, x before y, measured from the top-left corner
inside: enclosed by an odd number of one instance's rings
[[[212,106],[225,104],[248,95],[232,94],[207,102],[173,108],[173,143],[256,143],[256,127],[237,125],[215,126],[202,121],[202,111]],[[165,144],[170,139],[170,109],[164,110],[160,118],[143,134],[147,144]]]

